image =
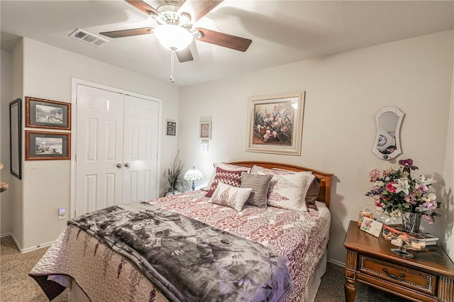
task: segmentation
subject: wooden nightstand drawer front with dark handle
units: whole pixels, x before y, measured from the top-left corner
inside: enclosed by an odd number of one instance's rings
[[[402,284],[411,289],[417,289],[434,295],[436,292],[436,276],[420,272],[408,267],[384,262],[382,260],[360,255],[359,270],[365,274]]]

